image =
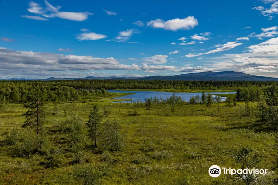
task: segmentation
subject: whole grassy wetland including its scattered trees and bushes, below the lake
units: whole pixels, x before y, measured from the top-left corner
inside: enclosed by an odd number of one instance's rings
[[[6,98],[0,110],[0,184],[278,182],[274,84],[241,88],[225,102],[200,93],[190,102],[173,95],[166,100],[112,103],[112,98],[126,94],[63,89],[69,95],[29,87],[30,93],[23,96],[16,87],[18,101],[12,100],[17,98],[14,94],[2,96]],[[50,92],[56,96],[51,101]],[[212,165],[242,168],[237,158],[242,151],[246,161],[256,161],[250,168],[273,174],[258,176],[257,182],[208,175]]]

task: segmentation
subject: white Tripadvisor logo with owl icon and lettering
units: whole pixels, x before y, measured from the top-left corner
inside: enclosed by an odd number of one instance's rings
[[[231,168],[225,168],[223,167],[222,168],[223,170],[223,174],[224,175],[235,175],[235,174],[238,174],[238,175],[258,175],[258,174],[261,174],[261,175],[267,175],[268,171],[267,169],[249,169],[249,168],[246,168],[246,169],[231,169]],[[208,169],[208,174],[212,177],[219,177],[219,175],[221,174],[221,168],[217,165],[213,165],[211,166],[209,169]]]

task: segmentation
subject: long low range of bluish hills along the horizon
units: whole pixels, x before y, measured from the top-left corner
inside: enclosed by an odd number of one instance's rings
[[[94,77],[87,76],[85,78],[47,78],[38,80],[213,80],[213,81],[278,81],[278,78],[266,77],[266,76],[255,76],[245,74],[243,72],[235,71],[222,71],[222,72],[197,72],[187,73],[175,76],[143,76],[143,77],[121,77],[121,76],[110,76],[110,77]],[[3,79],[1,79],[3,80]],[[33,80],[25,78],[11,78],[8,80]]]

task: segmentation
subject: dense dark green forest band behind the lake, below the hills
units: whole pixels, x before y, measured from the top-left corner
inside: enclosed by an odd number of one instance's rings
[[[0,81],[0,101],[24,102],[28,93],[42,91],[45,98],[71,101],[88,92],[82,89],[194,89],[238,90],[266,89],[269,81],[176,81],[176,80],[57,80]]]

